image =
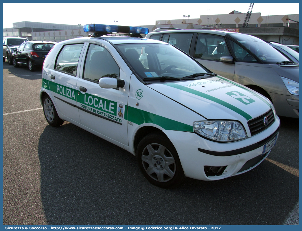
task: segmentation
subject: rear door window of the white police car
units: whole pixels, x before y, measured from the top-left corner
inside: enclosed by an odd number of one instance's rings
[[[83,45],[84,44],[65,45],[56,59],[55,69],[76,76]]]

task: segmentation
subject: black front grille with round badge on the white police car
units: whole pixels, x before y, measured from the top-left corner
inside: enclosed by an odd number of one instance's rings
[[[268,125],[266,127],[263,122],[264,117],[266,117],[268,120]],[[251,119],[250,121],[247,122],[247,124],[249,125],[249,131],[251,132],[251,135],[252,136],[256,135],[259,132],[262,132],[263,130],[267,129],[269,126],[273,124],[274,120],[275,120],[274,112],[272,109],[255,119]]]

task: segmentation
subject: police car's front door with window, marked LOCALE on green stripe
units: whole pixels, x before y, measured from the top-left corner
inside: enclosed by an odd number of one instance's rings
[[[117,52],[115,51],[115,53]],[[89,44],[85,56],[84,73],[77,82],[79,92],[77,106],[81,123],[110,138],[111,142],[116,141],[128,146],[129,84],[122,89],[104,89],[98,85],[98,80],[103,77],[124,80],[127,78],[108,49],[100,45]]]

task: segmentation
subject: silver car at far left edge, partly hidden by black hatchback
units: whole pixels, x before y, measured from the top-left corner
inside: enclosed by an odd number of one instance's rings
[[[13,64],[11,54],[21,43],[26,41],[28,41],[27,38],[3,37],[3,62],[5,62],[5,58],[7,58],[9,65]]]

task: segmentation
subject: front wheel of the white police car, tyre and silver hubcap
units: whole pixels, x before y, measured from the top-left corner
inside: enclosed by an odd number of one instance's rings
[[[140,141],[137,162],[146,179],[158,187],[176,187],[185,179],[174,145],[159,132],[150,133]]]

